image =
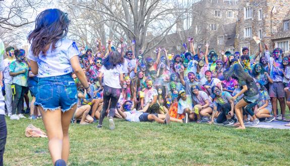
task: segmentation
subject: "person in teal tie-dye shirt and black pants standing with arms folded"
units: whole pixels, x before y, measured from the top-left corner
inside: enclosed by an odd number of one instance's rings
[[[28,76],[28,61],[25,57],[25,51],[23,49],[15,50],[16,61],[12,62],[9,67],[9,74],[12,76],[12,84],[15,86],[15,95],[12,102],[12,115],[16,114],[16,108],[18,109],[18,114],[22,114],[22,104],[25,88],[27,84]],[[22,115],[19,115],[22,117]]]

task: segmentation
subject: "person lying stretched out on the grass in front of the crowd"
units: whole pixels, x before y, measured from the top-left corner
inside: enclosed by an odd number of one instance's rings
[[[170,121],[172,122],[180,122],[185,123],[185,119],[179,120],[176,118],[170,118],[169,114],[148,114],[144,113],[148,109],[150,103],[147,103],[141,110],[132,110],[133,103],[128,100],[125,101],[123,104],[123,108],[125,112],[122,112],[119,107],[117,107],[118,113],[122,116],[123,119],[129,122],[157,122],[160,124],[169,124]]]

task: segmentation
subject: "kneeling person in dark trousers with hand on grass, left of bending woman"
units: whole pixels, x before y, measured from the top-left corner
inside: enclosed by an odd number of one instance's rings
[[[213,114],[211,117],[210,124],[214,121],[214,115],[217,110],[217,105],[221,106],[221,113],[217,117],[216,122],[222,123],[223,126],[233,125],[237,122],[237,118],[234,115],[234,99],[233,97],[227,92],[221,90],[217,86],[212,87],[212,91],[215,94],[215,98],[213,101]]]

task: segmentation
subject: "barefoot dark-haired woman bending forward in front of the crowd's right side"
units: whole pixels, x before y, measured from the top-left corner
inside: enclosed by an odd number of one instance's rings
[[[244,94],[243,99],[235,105],[235,112],[241,125],[238,129],[246,129],[243,121],[242,108],[248,104],[255,103],[259,99],[259,90],[253,77],[246,73],[240,64],[234,64],[228,71],[224,72],[225,78],[233,75],[238,78],[239,85],[243,87],[242,90],[233,97],[233,99],[235,100],[238,96]],[[258,119],[256,119],[256,121],[256,123],[259,123]]]

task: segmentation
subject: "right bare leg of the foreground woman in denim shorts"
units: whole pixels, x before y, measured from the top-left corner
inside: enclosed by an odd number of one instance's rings
[[[69,139],[69,127],[71,124],[71,119],[74,116],[77,104],[75,104],[67,112],[62,113],[62,128],[63,128],[63,149],[62,149],[62,159],[66,162],[69,160],[70,154],[70,139]]]

